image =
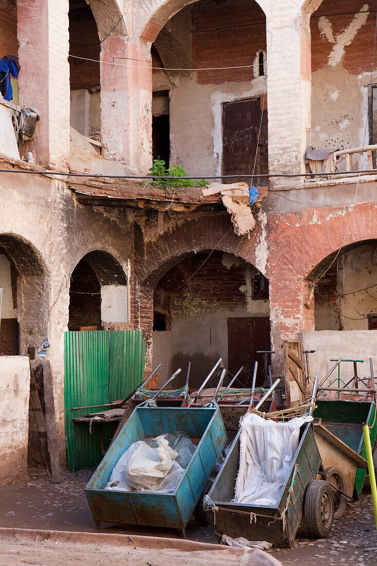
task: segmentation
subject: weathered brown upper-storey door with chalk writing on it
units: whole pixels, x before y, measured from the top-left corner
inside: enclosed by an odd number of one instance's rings
[[[263,98],[226,102],[222,111],[222,174],[268,173],[267,108]],[[265,100],[265,99],[264,99]],[[261,105],[264,104],[262,112]],[[260,128],[260,134],[259,134]],[[239,177],[232,181],[251,179]],[[268,185],[268,178],[256,178],[255,186]]]

